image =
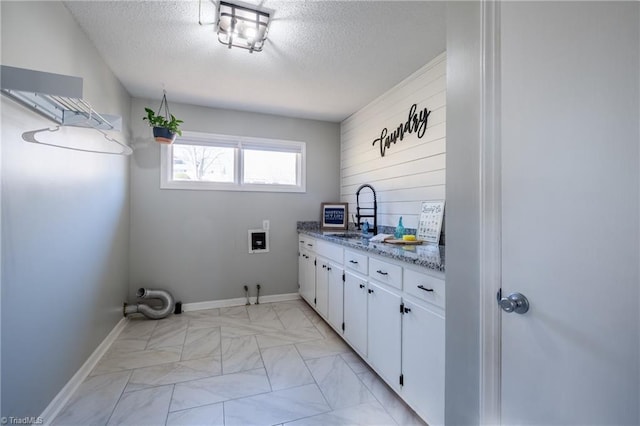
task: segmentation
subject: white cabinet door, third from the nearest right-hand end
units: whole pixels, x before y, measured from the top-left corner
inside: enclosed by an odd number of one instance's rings
[[[344,338],[367,356],[367,280],[349,272],[344,282]]]

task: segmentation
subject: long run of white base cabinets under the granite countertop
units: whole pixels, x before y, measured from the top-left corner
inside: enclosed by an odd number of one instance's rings
[[[300,234],[300,295],[429,424],[444,423],[444,274]]]

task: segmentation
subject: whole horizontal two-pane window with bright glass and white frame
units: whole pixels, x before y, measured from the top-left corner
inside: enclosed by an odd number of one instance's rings
[[[183,132],[161,147],[160,187],[305,191],[304,142]]]

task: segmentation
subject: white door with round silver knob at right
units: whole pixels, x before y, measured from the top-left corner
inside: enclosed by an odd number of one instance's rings
[[[638,4],[501,5],[502,424],[638,424]]]

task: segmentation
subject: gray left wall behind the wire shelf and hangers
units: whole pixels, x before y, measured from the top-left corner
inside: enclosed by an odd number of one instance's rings
[[[84,97],[128,122],[129,95],[61,3],[0,7],[3,64],[83,77]],[[127,293],[129,160],[22,141],[51,124],[2,96],[2,416],[40,415]],[[50,137],[103,140],[87,129]]]

